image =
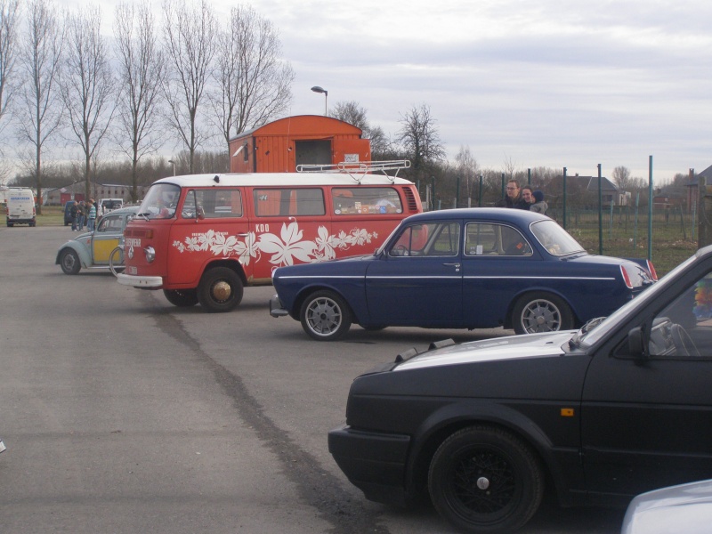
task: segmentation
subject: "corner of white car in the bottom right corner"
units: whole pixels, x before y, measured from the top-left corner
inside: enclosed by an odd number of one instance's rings
[[[648,491],[634,498],[621,534],[708,534],[712,530],[712,480]]]

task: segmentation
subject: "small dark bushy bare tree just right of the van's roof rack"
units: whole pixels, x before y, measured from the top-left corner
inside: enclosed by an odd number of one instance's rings
[[[401,116],[400,122],[401,130],[396,140],[410,158],[416,175],[445,158],[445,149],[429,106],[413,106]]]

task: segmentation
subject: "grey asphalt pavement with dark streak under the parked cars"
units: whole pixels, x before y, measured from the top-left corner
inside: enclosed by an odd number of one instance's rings
[[[354,376],[433,340],[506,332],[353,327],[311,341],[272,319],[178,309],[108,271],[61,272],[67,228],[0,227],[4,534],[452,532],[429,506],[370,503],[327,433]],[[622,511],[546,503],[524,534],[618,532]]]

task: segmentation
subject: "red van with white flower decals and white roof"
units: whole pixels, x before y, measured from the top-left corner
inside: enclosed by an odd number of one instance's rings
[[[422,212],[413,182],[371,174],[407,164],[158,180],[126,225],[118,282],[163,289],[176,306],[229,312],[243,287],[271,285],[277,267],[369,254]]]

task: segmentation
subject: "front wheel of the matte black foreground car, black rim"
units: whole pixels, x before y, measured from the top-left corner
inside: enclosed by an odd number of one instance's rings
[[[441,443],[430,463],[428,490],[435,509],[458,529],[509,534],[537,512],[544,473],[519,438],[473,426]]]

